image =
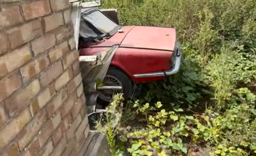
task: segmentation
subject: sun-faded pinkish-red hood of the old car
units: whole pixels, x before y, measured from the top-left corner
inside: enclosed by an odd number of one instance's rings
[[[175,28],[154,26],[129,26],[120,47],[159,49],[173,51],[176,43]]]

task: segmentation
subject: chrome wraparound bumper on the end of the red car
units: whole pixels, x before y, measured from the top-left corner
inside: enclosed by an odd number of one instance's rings
[[[180,65],[181,65],[181,51],[179,52],[179,55],[176,56],[175,65],[172,69],[168,71],[158,71],[154,73],[134,74],[133,76],[136,78],[168,76],[168,75],[176,74],[180,69]]]

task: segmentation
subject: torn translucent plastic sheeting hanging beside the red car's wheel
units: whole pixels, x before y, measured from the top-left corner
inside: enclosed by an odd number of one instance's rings
[[[96,53],[96,61],[81,62],[80,69],[82,69],[81,72],[88,113],[95,111],[96,100],[99,95],[99,92],[96,90],[96,81],[97,79],[103,80],[106,76],[107,69],[118,47],[119,45],[114,45]]]

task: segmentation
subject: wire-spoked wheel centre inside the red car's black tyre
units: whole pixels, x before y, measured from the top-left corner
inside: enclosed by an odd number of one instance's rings
[[[106,75],[106,77],[103,80],[103,84],[105,86],[121,86],[122,87],[121,90],[112,89],[112,90],[100,91],[99,98],[101,98],[102,100],[104,100],[106,102],[110,102],[112,100],[113,95],[115,95],[117,93],[123,93],[122,83],[116,77],[114,77],[112,75]]]

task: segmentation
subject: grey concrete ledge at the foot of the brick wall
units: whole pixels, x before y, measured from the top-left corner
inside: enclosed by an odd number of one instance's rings
[[[90,132],[78,156],[111,156],[106,136]]]

